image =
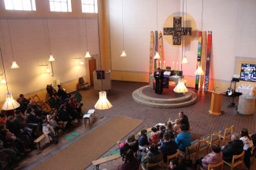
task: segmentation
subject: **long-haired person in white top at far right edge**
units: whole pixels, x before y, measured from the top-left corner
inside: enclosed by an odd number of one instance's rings
[[[243,161],[244,161],[244,164],[249,169],[250,168],[250,154],[251,154],[252,148],[254,147],[254,143],[249,135],[247,128],[242,128],[240,135],[241,135],[240,140],[243,141],[243,150],[245,151]]]

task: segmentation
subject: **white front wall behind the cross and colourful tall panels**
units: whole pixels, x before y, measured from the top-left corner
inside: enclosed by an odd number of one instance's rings
[[[122,24],[121,1],[109,0],[109,27],[112,70],[148,72],[150,31],[156,30],[156,0],[124,0],[124,49],[128,57],[121,58]],[[185,0],[186,2],[186,0]],[[256,1],[254,0],[204,0],[202,31],[213,31],[212,63],[210,78],[230,81],[235,70],[235,57],[251,57],[256,60]],[[183,1],[158,1],[158,31],[162,31],[165,19],[172,13],[182,12]],[[201,31],[202,0],[187,0],[190,14]],[[197,36],[198,37],[198,36]],[[181,48],[164,40],[167,64],[181,61]],[[185,76],[195,77],[198,38],[191,39],[186,56],[189,65],[183,67]]]

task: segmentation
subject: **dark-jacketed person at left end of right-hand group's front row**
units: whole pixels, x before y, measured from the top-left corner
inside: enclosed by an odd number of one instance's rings
[[[120,148],[120,155],[124,157],[129,149],[132,149],[134,152],[137,152],[137,150],[139,150],[139,142],[135,139],[134,135],[129,136],[128,139],[125,140],[124,146]]]

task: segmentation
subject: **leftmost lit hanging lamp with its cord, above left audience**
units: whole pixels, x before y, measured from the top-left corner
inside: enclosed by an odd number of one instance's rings
[[[2,60],[2,49],[1,49],[1,47],[0,47],[0,53],[1,53],[1,60]],[[3,60],[2,60],[2,68],[3,68],[3,74],[5,75],[5,78],[6,78],[6,69],[5,69],[5,65],[4,65]],[[9,92],[7,81],[6,81],[6,88],[7,88],[6,102],[2,105],[2,110],[14,110],[17,107],[20,107],[20,104],[17,103],[17,101],[15,99],[13,99],[13,93]]]

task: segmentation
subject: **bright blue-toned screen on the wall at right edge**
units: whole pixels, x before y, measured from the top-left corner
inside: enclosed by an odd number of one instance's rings
[[[256,64],[242,63],[240,80],[256,82]]]

